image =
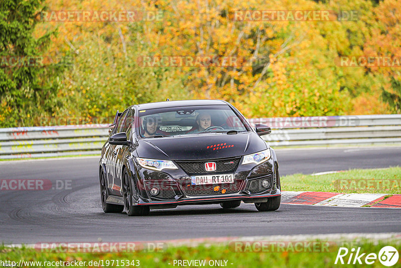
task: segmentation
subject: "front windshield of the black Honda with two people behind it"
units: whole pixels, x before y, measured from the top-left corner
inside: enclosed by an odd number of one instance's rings
[[[139,110],[142,138],[248,131],[228,105],[202,105]]]

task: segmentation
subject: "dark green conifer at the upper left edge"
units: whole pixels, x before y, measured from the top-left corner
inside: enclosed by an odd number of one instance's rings
[[[54,72],[15,64],[46,51],[54,31],[33,36],[43,8],[42,0],[0,2],[0,126],[30,125],[33,116],[52,111],[56,89],[41,76]]]

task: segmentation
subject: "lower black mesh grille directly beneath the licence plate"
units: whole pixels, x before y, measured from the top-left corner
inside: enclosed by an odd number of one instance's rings
[[[206,184],[206,185],[190,185],[189,183],[184,187],[184,191],[187,195],[221,195],[221,194],[232,194],[240,191],[241,184],[243,181],[235,181],[234,183],[224,184]],[[219,186],[219,190],[215,191],[215,187]],[[226,190],[224,192],[224,190]],[[223,192],[222,192],[223,191]]]

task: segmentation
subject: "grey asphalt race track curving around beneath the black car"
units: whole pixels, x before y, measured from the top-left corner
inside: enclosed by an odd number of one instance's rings
[[[401,163],[401,147],[277,150],[280,175]],[[48,179],[70,189],[0,191],[0,242],[144,241],[275,234],[401,232],[401,210],[281,205],[257,212],[253,204],[152,210],[146,217],[105,214],[98,158],[0,162],[0,179]],[[59,184],[60,186],[60,184]],[[285,185],[283,185],[285,190]]]

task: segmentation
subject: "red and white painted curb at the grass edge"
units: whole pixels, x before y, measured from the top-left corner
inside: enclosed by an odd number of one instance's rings
[[[401,208],[401,194],[339,194],[330,192],[281,193],[282,204]]]

